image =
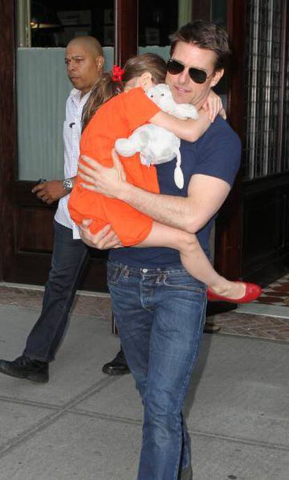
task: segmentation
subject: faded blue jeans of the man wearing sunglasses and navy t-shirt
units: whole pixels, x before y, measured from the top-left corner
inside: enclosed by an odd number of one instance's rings
[[[205,323],[205,285],[182,266],[108,262],[121,344],[144,405],[138,480],[177,480],[191,463],[181,409]]]

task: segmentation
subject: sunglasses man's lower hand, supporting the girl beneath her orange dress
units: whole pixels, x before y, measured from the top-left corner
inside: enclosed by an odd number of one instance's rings
[[[83,220],[80,226],[80,236],[84,243],[99,250],[123,247],[110,225],[105,225],[98,233],[91,233],[89,229],[91,221],[91,219]]]

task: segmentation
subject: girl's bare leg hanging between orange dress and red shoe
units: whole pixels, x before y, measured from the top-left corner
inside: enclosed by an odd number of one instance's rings
[[[179,250],[181,263],[187,272],[205,283],[218,295],[240,298],[244,296],[246,286],[241,282],[230,280],[218,275],[207,256],[200,247],[198,238],[193,233],[186,233],[154,221],[147,238],[135,247],[169,247]]]

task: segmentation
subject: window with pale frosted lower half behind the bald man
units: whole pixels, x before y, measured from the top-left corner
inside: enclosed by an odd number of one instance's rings
[[[96,36],[105,68],[114,57],[113,0],[17,1],[18,177],[63,177],[62,129],[71,83],[64,52],[75,36]]]

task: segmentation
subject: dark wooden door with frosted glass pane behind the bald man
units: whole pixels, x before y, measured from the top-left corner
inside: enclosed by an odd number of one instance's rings
[[[12,71],[15,67],[16,85],[12,75],[10,85],[5,85],[9,95],[13,92],[15,122],[10,110],[6,108],[6,117],[2,110],[3,123],[10,126],[7,145],[11,140],[16,158],[13,163],[11,149],[4,145],[2,163],[5,162],[11,180],[6,192],[0,191],[1,199],[7,203],[3,212],[7,212],[4,222],[9,231],[9,235],[3,235],[2,252],[6,254],[1,258],[1,275],[6,282],[43,284],[50,270],[57,204],[40,202],[31,189],[40,177],[64,178],[62,129],[66,99],[72,88],[66,77],[64,52],[72,38],[96,36],[104,48],[105,68],[111,68],[114,0],[8,3],[6,19],[10,23],[6,28],[10,33],[15,30],[16,43],[13,44],[13,34],[6,34],[6,51],[13,52],[15,47],[14,65],[11,56],[7,56],[6,63]],[[8,10],[7,3],[3,4],[4,10]],[[91,254],[84,289],[107,291],[106,255],[98,250]]]

